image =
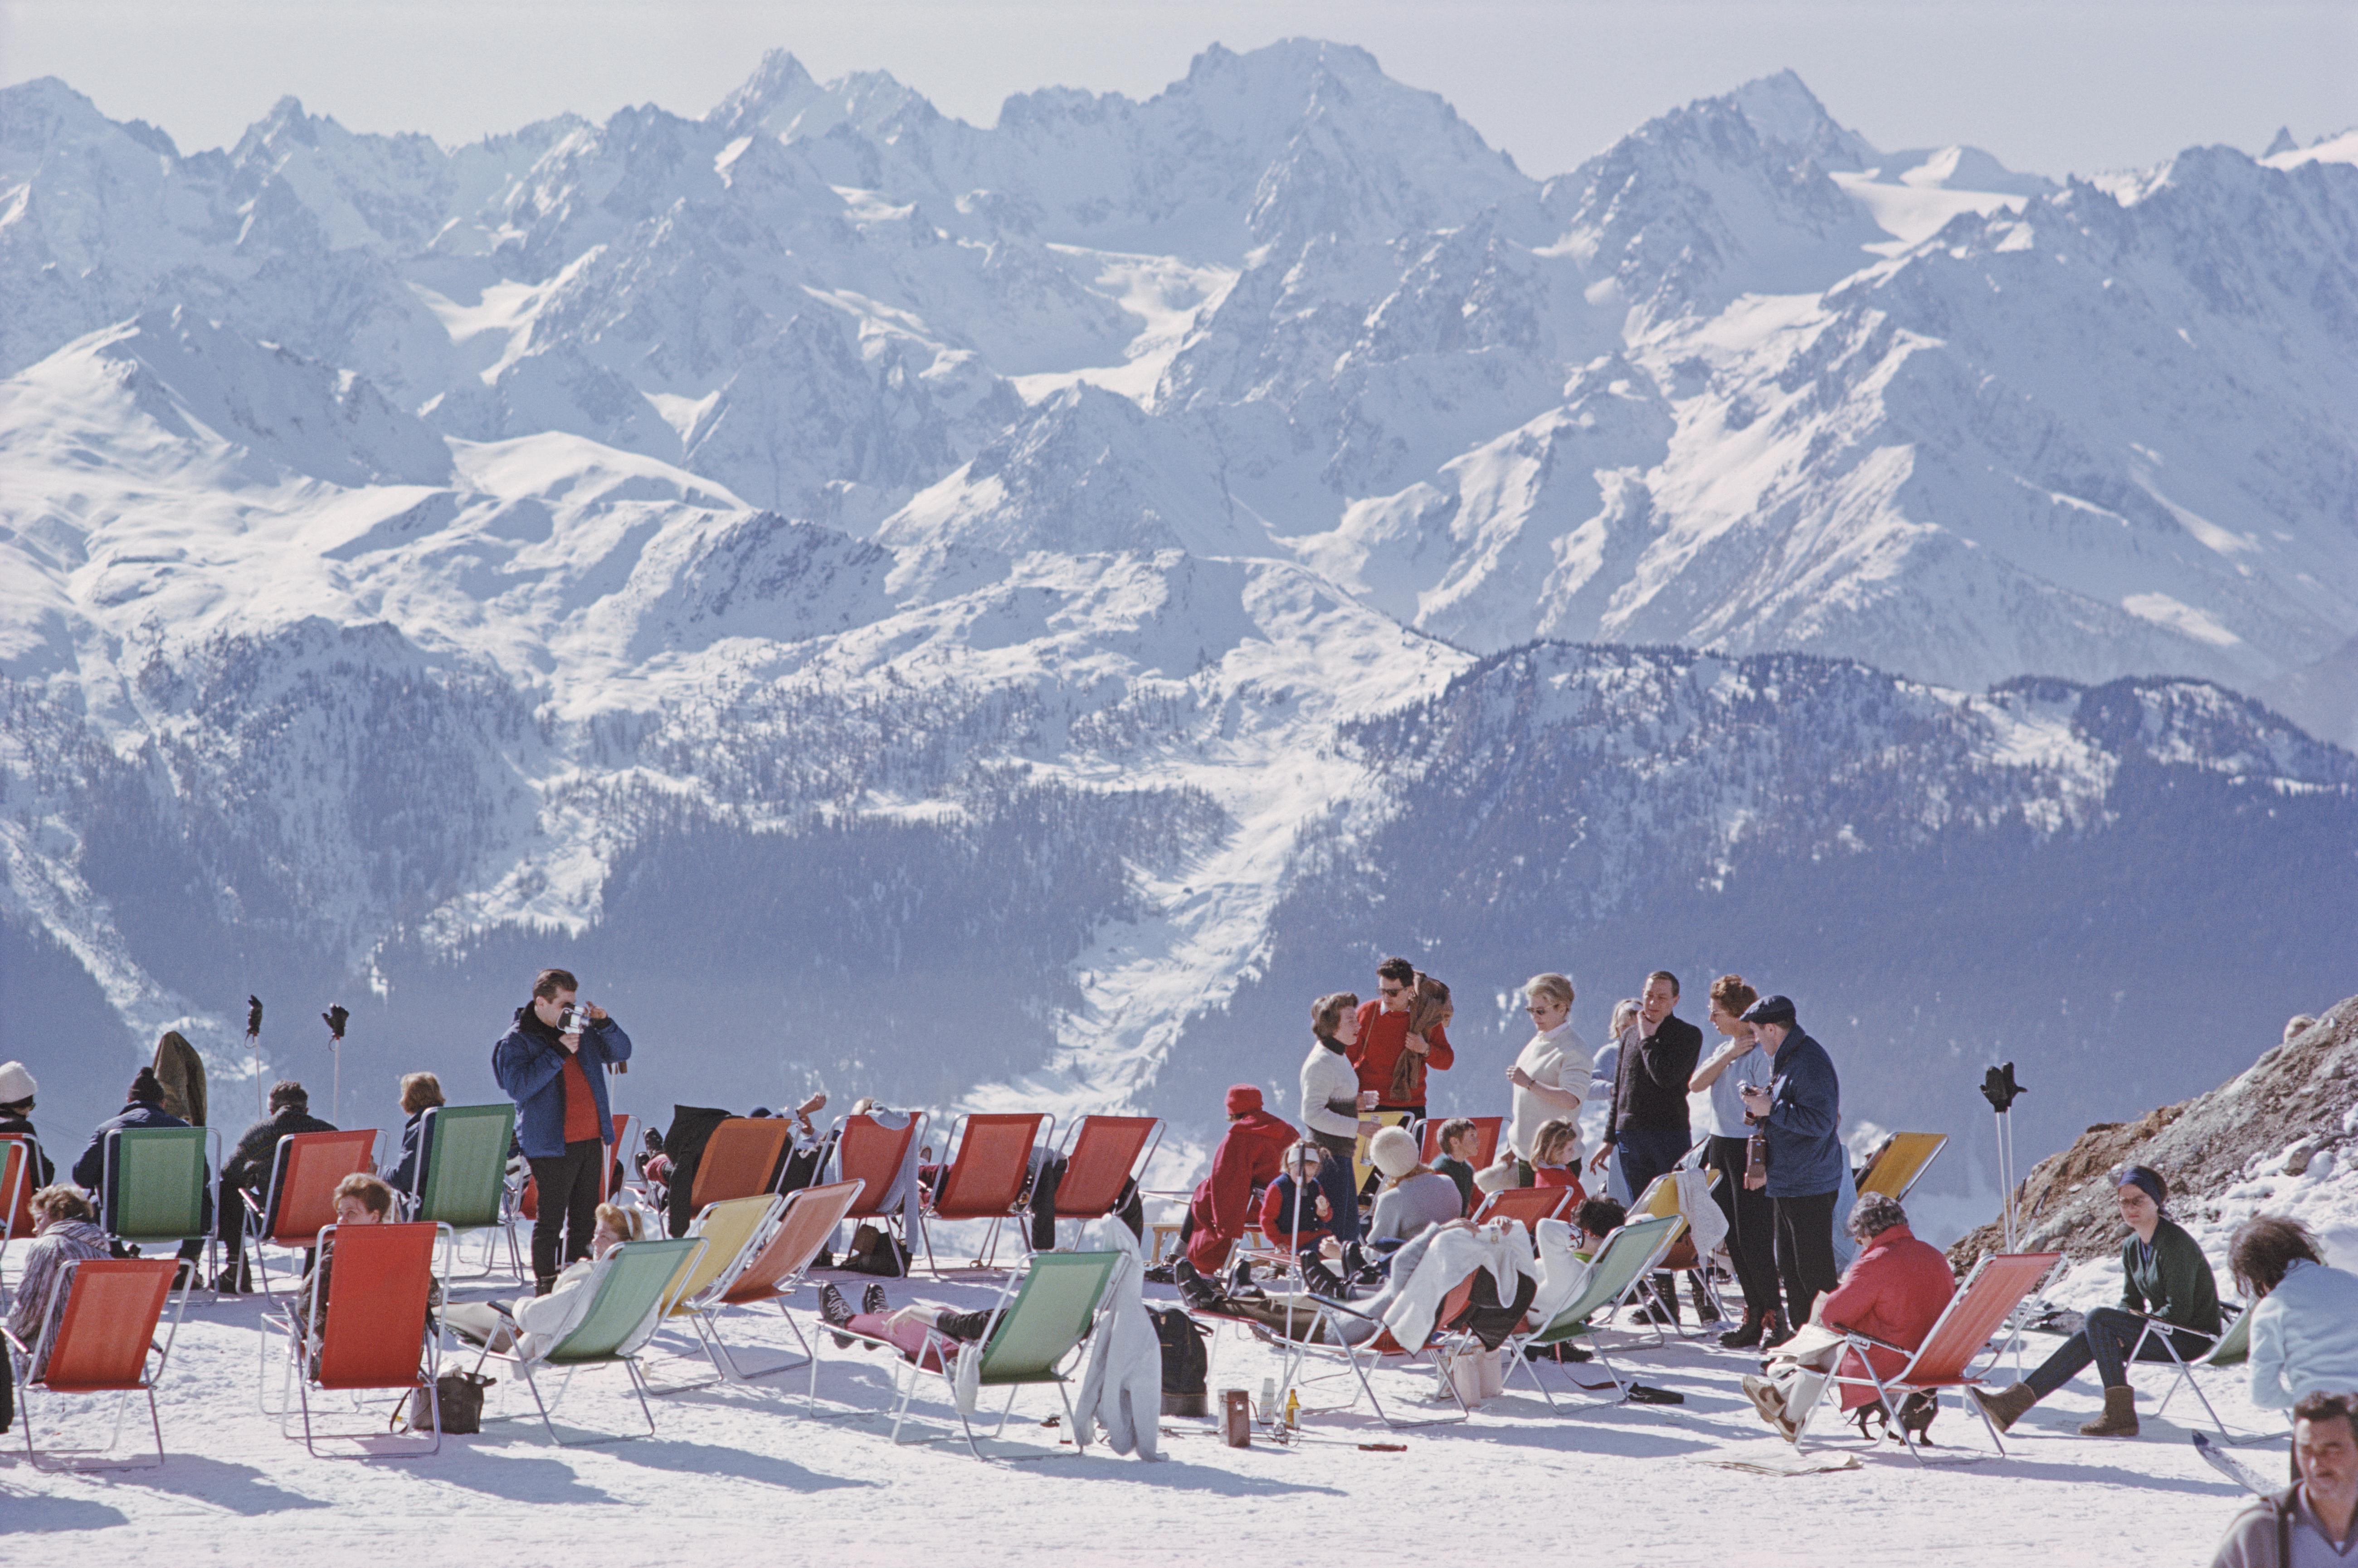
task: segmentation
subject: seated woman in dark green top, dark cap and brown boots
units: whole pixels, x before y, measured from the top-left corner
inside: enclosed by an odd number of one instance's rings
[[[2136,1349],[2139,1361],[2169,1361],[2160,1335],[2174,1327],[2193,1330],[2169,1332],[2184,1361],[2207,1351],[2219,1335],[2219,1280],[2212,1278],[2202,1245],[2162,1214],[2169,1184],[2150,1165],[2122,1165],[2113,1172],[2113,1188],[2120,1193],[2120,1217],[2129,1224],[2129,1238],[2120,1243],[2120,1306],[2094,1309],[2080,1332],[2023,1382],[1997,1394],[1967,1389],[2000,1431],[2094,1361],[2103,1379],[2103,1415],[2082,1422],[2080,1436],[2134,1438],[2136,1394],[2129,1389],[2127,1363],[2146,1320],[2153,1318],[2155,1337]]]

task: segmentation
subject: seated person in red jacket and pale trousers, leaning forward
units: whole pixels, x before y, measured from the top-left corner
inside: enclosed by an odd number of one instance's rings
[[[1851,1236],[1858,1240],[1858,1257],[1851,1259],[1842,1285],[1818,1297],[1804,1332],[1794,1335],[1768,1363],[1766,1377],[1747,1377],[1745,1394],[1761,1419],[1776,1427],[1787,1443],[1799,1441],[1802,1419],[1818,1403],[1827,1370],[1835,1365],[1844,1332],[1882,1339],[1898,1351],[1870,1349],[1877,1377],[1896,1377],[1908,1356],[1924,1344],[1924,1335],[1941,1320],[1948,1299],[1957,1294],[1957,1276],[1950,1273],[1941,1250],[1919,1243],[1908,1228],[1908,1210],[1898,1198],[1868,1193],[1851,1205]],[[1856,1382],[1853,1382],[1856,1379]],[[1842,1408],[1863,1410],[1877,1405],[1875,1384],[1868,1379],[1868,1363],[1858,1351],[1842,1351]],[[1917,1419],[1922,1417],[1922,1419]],[[1901,1422],[1910,1429],[1931,1424],[1931,1405],[1910,1396],[1901,1405]],[[1865,1417],[1860,1417],[1865,1431]]]

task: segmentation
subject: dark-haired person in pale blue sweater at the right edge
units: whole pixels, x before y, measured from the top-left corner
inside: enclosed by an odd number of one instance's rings
[[[2327,1269],[2308,1226],[2275,1214],[2235,1228],[2228,1264],[2252,1302],[2252,1403],[2358,1394],[2358,1273]]]

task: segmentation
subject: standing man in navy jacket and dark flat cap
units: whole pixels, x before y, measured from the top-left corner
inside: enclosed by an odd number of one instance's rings
[[[1745,1120],[1768,1134],[1768,1205],[1776,1273],[1785,1285],[1783,1337],[1809,1323],[1818,1294],[1842,1285],[1835,1193],[1842,1188],[1842,1080],[1825,1047],[1802,1033],[1790,997],[1761,997],[1745,1023],[1768,1047],[1768,1087],[1745,1092]]]

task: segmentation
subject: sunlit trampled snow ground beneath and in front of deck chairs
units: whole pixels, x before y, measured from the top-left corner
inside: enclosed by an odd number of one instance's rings
[[[2259,1198],[2287,1193],[2247,1193],[2238,1210]],[[2304,1177],[2292,1198],[2330,1236],[2351,1236],[2358,1224],[2349,1174]],[[2082,1271],[2082,1280],[2103,1294],[2096,1273]],[[837,1278],[851,1294],[863,1283]],[[981,1276],[891,1280],[887,1290],[896,1306],[976,1306],[993,1292]],[[1151,1290],[1158,1294],[1170,1292]],[[1681,1391],[1684,1405],[1592,1405],[1552,1384],[1566,1403],[1552,1412],[1516,1379],[1457,1427],[1394,1434],[1363,1410],[1311,1412],[1292,1445],[1231,1450],[1212,1422],[1165,1417],[1158,1464],[1099,1448],[1042,1464],[976,1464],[960,1443],[891,1448],[877,1415],[887,1408],[884,1365],[821,1342],[816,1415],[792,1396],[799,1382],[790,1375],[776,1379],[778,1394],[665,1396],[656,1401],[658,1436],[561,1450],[531,1419],[523,1391],[502,1382],[486,1415],[526,1419],[448,1438],[436,1457],[314,1460],[257,1408],[257,1313],[252,1299],[189,1309],[160,1398],[163,1469],[50,1476],[7,1450],[0,1535],[45,1537],[12,1540],[7,1559],[127,1563],[165,1551],[182,1563],[384,1561],[457,1547],[467,1561],[514,1566],[747,1551],[773,1563],[1196,1563],[1226,1549],[1254,1561],[1441,1551],[1712,1566],[1901,1554],[1910,1563],[2205,1563],[2242,1507],[2188,1443],[2200,1419],[2193,1401],[2179,1396],[2167,1419],[2150,1419],[2165,1386],[2158,1368],[2136,1372],[2148,1389],[2136,1441],[2073,1434],[2096,1408],[2094,1389],[2080,1382],[2009,1434],[2007,1457],[1990,1455],[1978,1422],[1945,1408],[1934,1424],[1943,1462],[1929,1469],[1896,1443],[1863,1448],[1820,1419],[1811,1448],[1851,1452],[1858,1464],[1766,1476],[1712,1464],[1731,1450],[1783,1448],[1738,1386],[1754,1363],[1700,1339],[1653,1349],[1636,1332],[1618,1335],[1632,1346],[1620,1351],[1622,1365]],[[788,1344],[776,1316],[752,1313],[731,1325],[731,1342]],[[2023,1363],[2051,1344],[2030,1337]],[[1212,1389],[1257,1394],[1276,1370],[1269,1351],[1221,1332]],[[1559,1377],[1554,1368],[1542,1375]],[[2283,1417],[2252,1408],[2240,1372],[2200,1377],[2238,1434],[2264,1438],[2242,1457],[2275,1476]],[[1429,1375],[1382,1372],[1379,1389],[1396,1415],[1434,1412],[1424,1403]],[[1311,1405],[1339,1401],[1339,1382],[1311,1391]],[[582,1375],[559,1410],[608,1429],[637,1415],[615,1372]],[[948,1408],[934,1401],[920,1410],[927,1431],[941,1434]],[[1052,1412],[1047,1391],[1026,1391],[1007,1443],[1028,1452],[1054,1445],[1061,1429],[1038,1424]]]

